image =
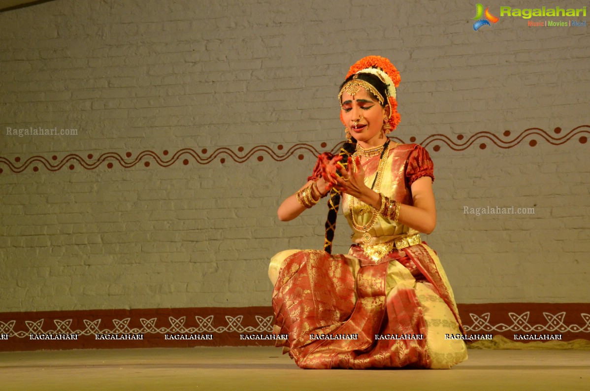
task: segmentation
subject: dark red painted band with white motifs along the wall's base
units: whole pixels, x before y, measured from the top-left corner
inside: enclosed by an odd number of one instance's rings
[[[486,303],[457,307],[466,334],[501,335],[510,340],[518,340],[515,335],[590,340],[590,303]],[[0,313],[0,351],[274,346],[275,341],[268,339],[273,323],[270,306],[9,312]],[[49,334],[77,334],[77,339],[37,337]],[[124,339],[97,339],[96,334]],[[142,339],[130,337],[139,335]],[[191,335],[194,339],[189,339]],[[204,337],[207,335],[211,337]]]

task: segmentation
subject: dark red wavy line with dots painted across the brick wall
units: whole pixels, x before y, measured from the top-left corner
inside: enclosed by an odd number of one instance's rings
[[[553,136],[552,133],[555,134],[555,136]],[[480,149],[486,149],[488,144],[494,144],[502,149],[510,149],[520,143],[526,142],[527,140],[529,146],[534,147],[537,144],[537,139],[543,139],[552,145],[561,145],[577,138],[579,143],[585,144],[588,142],[588,137],[585,136],[585,134],[590,134],[590,125],[575,127],[560,137],[559,134],[562,133],[560,127],[553,129],[552,133],[538,127],[523,130],[523,132],[516,137],[512,137],[512,132],[510,130],[504,131],[501,136],[490,132],[477,132],[472,134],[466,140],[464,140],[465,136],[463,136],[463,134],[458,134],[455,136],[457,139],[456,142],[445,134],[431,134],[419,144],[424,147],[433,144],[432,150],[434,150],[434,152],[438,152],[441,149],[441,146],[447,146],[455,152],[460,152],[468,149],[474,144]],[[399,137],[394,136],[391,137],[391,139],[399,143],[404,143],[404,140]],[[416,137],[410,137],[409,142],[415,143]],[[332,147],[332,153],[336,153],[341,145],[342,143],[339,143]],[[320,147],[326,148],[327,144],[321,143]],[[315,157],[323,152],[323,150],[318,150],[316,147],[304,143],[294,144],[289,149],[284,149],[285,147],[282,144],[278,144],[274,149],[266,145],[258,145],[250,149],[248,152],[244,152],[244,147],[238,147],[237,152],[227,147],[220,147],[212,152],[209,152],[207,148],[201,150],[182,148],[173,153],[173,155],[170,155],[168,150],[163,150],[162,157],[160,157],[157,152],[151,150],[142,151],[135,157],[133,157],[133,153],[131,152],[127,152],[125,156],[121,156],[117,152],[105,152],[97,157],[92,153],[89,153],[86,157],[78,155],[77,153],[70,153],[61,157],[61,159],[57,155],[51,156],[50,159],[38,155],[31,156],[22,163],[21,157],[15,157],[14,162],[12,162],[6,157],[0,156],[0,166],[2,164],[6,165],[13,173],[22,173],[28,169],[33,172],[38,172],[40,167],[45,167],[48,171],[59,171],[64,167],[67,167],[67,169],[70,170],[74,170],[76,167],[81,167],[86,170],[94,170],[103,165],[103,163],[106,163],[108,169],[112,169],[114,163],[119,163],[123,168],[131,168],[143,162],[144,166],[149,167],[151,165],[150,161],[153,161],[160,167],[169,167],[179,161],[185,166],[191,163],[191,161],[194,161],[199,165],[207,165],[217,159],[219,159],[220,163],[225,163],[228,159],[233,160],[235,163],[244,163],[254,157],[258,162],[262,162],[265,155],[277,162],[282,162],[283,160],[289,159],[291,156],[297,156],[297,159],[303,160],[307,153]],[[0,167],[0,174],[3,172],[4,169]]]

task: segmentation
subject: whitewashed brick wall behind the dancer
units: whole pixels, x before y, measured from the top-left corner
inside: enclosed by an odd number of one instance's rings
[[[530,127],[560,137],[587,125],[588,29],[501,18],[476,32],[474,8],[55,0],[6,12],[0,157],[20,166],[69,153],[96,162],[106,152],[131,152],[130,161],[144,150],[170,159],[182,148],[207,149],[205,157],[219,147],[241,156],[258,145],[329,149],[343,137],[337,86],[369,54],[401,71],[395,136],[405,142],[505,130],[509,140]],[[78,135],[6,136],[6,127],[31,126]],[[511,149],[480,139],[461,152],[428,146],[438,226],[427,241],[458,302],[588,301],[590,163],[578,138],[553,146],[532,136]],[[313,166],[311,153],[299,153],[303,160],[283,162],[220,155],[207,165],[185,155],[166,168],[152,157],[129,169],[70,161],[57,172],[37,163],[38,172],[12,173],[0,162],[0,312],[270,305],[271,255],[323,244],[324,206],[293,222],[276,218]],[[487,205],[536,213],[463,214]],[[335,243],[346,251],[343,218]]]

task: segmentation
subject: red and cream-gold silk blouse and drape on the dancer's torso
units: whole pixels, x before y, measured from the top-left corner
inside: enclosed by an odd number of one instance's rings
[[[371,159],[362,163],[362,166],[365,170],[365,184],[371,187],[377,175],[379,156],[371,157]],[[434,165],[427,150],[418,144],[399,144],[394,149],[391,149],[391,147],[389,149],[381,188],[376,191],[405,205],[413,205],[411,186],[415,180],[422,178],[422,176],[430,176],[434,180]],[[360,244],[362,243],[363,232],[357,231],[352,225],[348,196],[343,196],[342,201],[344,215],[353,230],[350,238],[353,243]],[[371,220],[373,212],[378,213],[378,211],[358,200],[355,200],[354,212],[355,221],[360,226],[367,224]],[[381,244],[401,236],[418,234],[418,231],[390,221],[379,214],[377,221],[368,233],[373,238],[373,244]]]

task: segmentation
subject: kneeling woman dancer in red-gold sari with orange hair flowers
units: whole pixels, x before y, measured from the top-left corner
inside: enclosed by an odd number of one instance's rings
[[[436,224],[428,152],[386,137],[399,123],[399,72],[379,56],[352,65],[340,88],[346,137],[278,208],[296,218],[330,195],[324,251],[275,255],[274,333],[298,366],[450,368],[467,359],[457,305],[436,252],[421,241]],[[340,199],[352,228],[348,254],[330,254]],[[451,337],[453,337],[451,336]]]

